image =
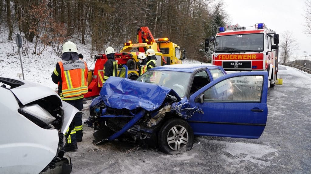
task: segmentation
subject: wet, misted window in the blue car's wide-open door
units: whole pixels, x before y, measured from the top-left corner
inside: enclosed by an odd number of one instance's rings
[[[260,102],[263,76],[223,80],[204,92],[204,102]]]

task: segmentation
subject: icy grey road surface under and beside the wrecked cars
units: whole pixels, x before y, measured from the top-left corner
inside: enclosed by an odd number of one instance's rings
[[[310,173],[311,75],[279,65],[278,77],[283,85],[268,92],[268,121],[259,139],[199,136],[192,150],[167,155],[127,141],[94,146],[93,130],[83,125],[83,141],[68,153],[72,173]]]

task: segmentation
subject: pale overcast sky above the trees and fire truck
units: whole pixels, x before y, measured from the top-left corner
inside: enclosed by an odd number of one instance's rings
[[[302,56],[303,51],[311,54],[311,37],[304,34],[305,0],[223,0],[225,11],[230,15],[232,24],[253,26],[265,23],[268,28],[276,31],[282,39],[286,30],[293,32]]]

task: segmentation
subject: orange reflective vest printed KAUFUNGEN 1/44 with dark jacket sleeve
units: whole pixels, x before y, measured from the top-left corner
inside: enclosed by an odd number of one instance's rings
[[[62,60],[56,64],[52,74],[58,81],[58,94],[62,100],[76,100],[84,97],[87,88],[87,65],[83,60]]]

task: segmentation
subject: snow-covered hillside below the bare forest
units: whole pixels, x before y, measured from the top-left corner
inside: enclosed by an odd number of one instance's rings
[[[18,48],[15,44],[15,38],[13,37],[13,41],[8,41],[7,36],[7,30],[5,31],[2,28],[0,33],[0,77],[19,79],[17,73],[21,73],[21,62]],[[87,62],[89,69],[94,69],[93,59],[90,57],[91,46],[83,45],[78,40],[71,41],[77,44],[78,52],[84,55],[83,60]],[[116,49],[116,51],[118,50]],[[29,54],[21,57],[25,80],[57,89],[57,85],[51,80],[51,74],[61,58],[53,52],[52,47],[47,46],[41,55]],[[189,60],[183,60],[183,63],[201,64],[201,62]],[[23,79],[22,76],[21,79]]]

